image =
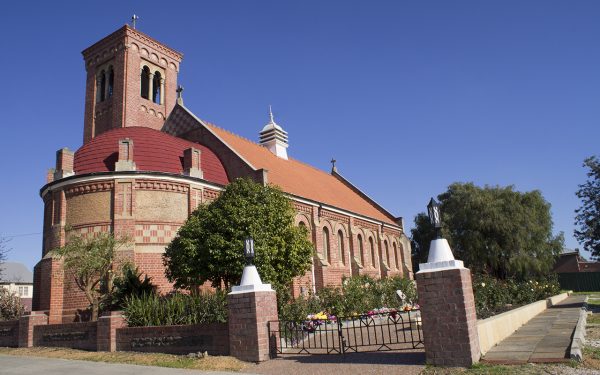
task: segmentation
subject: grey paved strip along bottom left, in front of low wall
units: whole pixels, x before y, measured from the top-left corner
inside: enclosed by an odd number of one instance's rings
[[[239,372],[181,370],[165,367],[121,365],[68,359],[0,355],[1,375],[239,375]]]

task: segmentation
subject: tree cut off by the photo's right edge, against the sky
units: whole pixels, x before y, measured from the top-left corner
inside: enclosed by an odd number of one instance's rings
[[[575,238],[583,248],[600,258],[600,160],[592,156],[584,160],[583,166],[589,168],[588,180],[579,185],[577,197],[582,206],[575,210]]]

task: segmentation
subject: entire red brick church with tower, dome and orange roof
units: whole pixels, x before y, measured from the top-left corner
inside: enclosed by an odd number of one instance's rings
[[[48,311],[50,322],[59,323],[88,305],[49,253],[64,245],[65,228],[129,236],[132,243],[121,256],[169,291],[165,247],[199,204],[238,177],[281,187],[296,208],[297,225],[310,232],[316,254],[311,270],[293,282],[296,295],[339,285],[343,276],[412,278],[401,218],[335,166],[328,173],[289,158],[287,133],[272,114],[256,127],[258,143],[197,117],[177,85],[182,57],[129,26],[83,51],[83,145],[57,151],[40,191],[44,228],[34,311]]]

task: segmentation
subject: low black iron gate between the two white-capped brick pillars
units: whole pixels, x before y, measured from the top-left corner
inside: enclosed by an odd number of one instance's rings
[[[419,310],[331,320],[270,321],[272,354],[344,354],[423,348]]]

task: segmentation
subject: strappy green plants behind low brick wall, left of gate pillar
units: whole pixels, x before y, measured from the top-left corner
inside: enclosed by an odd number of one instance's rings
[[[124,314],[130,327],[227,322],[225,292],[158,296],[144,294],[125,300]]]

